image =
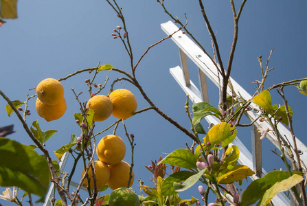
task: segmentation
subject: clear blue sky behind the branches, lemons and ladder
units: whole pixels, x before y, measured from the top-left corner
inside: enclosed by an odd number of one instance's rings
[[[170,21],[161,5],[157,1],[119,1],[123,8],[128,27],[130,42],[133,47],[135,62],[143,54],[146,48],[156,43],[166,34],[160,28],[161,23]],[[205,10],[212,23],[212,28],[217,33],[217,40],[221,50],[223,63],[227,64],[231,41],[233,38],[233,20],[231,7],[228,1],[207,1]],[[239,5],[240,1],[235,2]],[[174,16],[179,16],[183,21],[184,13],[187,14],[187,28],[196,36],[203,46],[211,52],[211,41],[207,34],[201,11],[196,1],[165,1],[165,5]],[[279,82],[304,78],[307,76],[307,3],[305,1],[247,1],[239,23],[239,39],[234,56],[234,78],[245,90],[253,93],[255,80],[260,80],[261,73],[258,56],[263,60],[268,58],[271,49],[275,48],[270,60],[270,67],[275,69],[269,73],[266,86]],[[238,9],[237,9],[238,10]],[[122,47],[120,40],[113,40],[111,33],[117,25],[122,25],[115,12],[106,1],[39,1],[18,3],[19,18],[8,20],[0,27],[0,62],[1,81],[0,89],[11,100],[25,100],[29,93],[34,94],[36,85],[45,78],[62,78],[79,69],[96,67],[101,64],[111,64],[118,69],[130,72],[128,55]],[[142,85],[148,97],[179,124],[190,128],[183,108],[185,93],[181,91],[177,82],[172,79],[169,68],[181,65],[179,49],[170,40],[165,41],[150,49],[150,52],[137,68],[137,79]],[[196,66],[189,62],[190,75],[194,82],[197,80]],[[106,76],[110,78],[106,89],[109,91],[111,82],[120,78],[119,73],[105,71],[98,74],[96,83],[103,84]],[[87,85],[84,80],[91,78],[89,73],[82,73],[62,82],[65,87],[67,111],[65,115],[56,121],[45,122],[38,117],[35,111],[35,100],[29,102],[32,113],[27,117],[30,125],[36,119],[43,130],[56,129],[58,133],[46,143],[46,147],[53,155],[53,151],[60,146],[69,143],[71,134],[80,134],[80,129],[73,119],[73,113],[78,113],[76,102],[71,88],[75,91],[83,91],[82,101],[89,99]],[[208,83],[209,99],[212,105],[218,102],[218,91],[212,83]],[[115,89],[126,88],[132,91],[138,100],[138,109],[148,107],[141,98],[137,89],[128,82],[115,84]],[[293,123],[295,134],[305,144],[304,138],[306,117],[306,96],[297,92],[297,89],[285,89],[288,104],[293,109]],[[282,104],[282,99],[275,91],[272,92],[273,102]],[[0,126],[14,124],[17,133],[8,136],[24,144],[31,144],[29,137],[23,131],[21,123],[16,115],[8,117],[5,112],[5,101],[0,99]],[[104,122],[96,124],[99,132],[113,124],[116,119],[110,117]],[[203,122],[207,126],[206,122]],[[191,144],[191,140],[172,124],[166,122],[154,111],[148,111],[131,117],[125,121],[128,133],[135,135],[135,184],[134,190],[138,191],[137,179],[141,178],[147,185],[151,185],[150,173],[144,165],[149,165],[150,160],[158,159],[160,155],[172,152],[177,148],[185,148],[185,142]],[[250,147],[249,130],[245,129],[238,135],[247,142]],[[112,130],[104,133],[109,135]],[[128,146],[128,140],[124,136],[122,125],[117,129],[117,134],[124,139]],[[242,135],[240,135],[242,134]],[[104,137],[102,135],[100,138]],[[270,150],[273,146],[266,139],[262,148],[264,154],[272,159],[266,159],[264,166],[270,171],[279,167],[282,161],[271,162],[275,157]],[[54,159],[56,157],[52,156]],[[130,150],[126,152],[125,161],[130,161]],[[82,165],[79,165],[81,172]],[[69,165],[67,165],[69,168]],[[278,169],[278,168],[277,168]],[[79,181],[80,174],[76,174],[75,181]],[[0,188],[2,189],[2,188]],[[3,190],[5,190],[3,188]],[[107,190],[106,193],[111,191]],[[190,196],[200,198],[197,190],[191,188],[184,198]],[[2,205],[10,205],[0,201]]]

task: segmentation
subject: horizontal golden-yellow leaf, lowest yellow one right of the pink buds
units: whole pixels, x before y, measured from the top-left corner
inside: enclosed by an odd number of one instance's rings
[[[218,174],[218,183],[230,184],[255,174],[253,170],[245,165],[230,165],[229,167],[231,170],[227,170],[227,168]]]

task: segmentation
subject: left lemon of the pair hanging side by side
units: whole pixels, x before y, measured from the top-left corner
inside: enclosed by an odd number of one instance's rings
[[[87,102],[87,108],[94,111],[94,121],[101,122],[111,116],[113,105],[107,96],[95,95]]]

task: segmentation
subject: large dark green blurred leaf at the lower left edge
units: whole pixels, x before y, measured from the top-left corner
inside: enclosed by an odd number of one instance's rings
[[[40,201],[43,201],[50,180],[45,157],[28,146],[4,137],[0,137],[0,157],[0,185],[21,187],[40,196]]]

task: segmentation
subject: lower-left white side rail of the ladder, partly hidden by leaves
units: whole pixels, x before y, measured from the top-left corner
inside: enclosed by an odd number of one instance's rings
[[[195,84],[192,81],[189,87],[185,86],[182,69],[179,66],[171,68],[170,73],[172,74],[174,79],[177,81],[181,89],[183,89],[183,91],[186,94],[190,95],[190,100],[192,100],[192,102],[195,102],[195,103],[202,102],[201,91],[199,91],[195,87]],[[205,117],[205,119],[208,122],[208,124],[211,124],[211,123],[219,124],[220,123],[220,120],[214,116],[207,116]],[[236,137],[236,139],[234,139],[234,141],[231,144],[229,144],[229,146],[232,146],[232,145],[237,146],[240,150],[240,157],[238,159],[238,162],[242,165],[247,165],[249,168],[253,168],[253,161],[252,161],[253,156],[251,155],[251,152],[249,152],[249,150],[245,147],[245,145],[242,144],[242,141],[240,141],[238,136]],[[266,171],[262,168],[261,176],[264,176],[265,174],[266,174]],[[255,174],[250,177],[253,181],[259,178]],[[290,200],[286,197],[284,193],[278,194],[272,199],[272,201],[275,205],[278,205],[278,206],[291,205]]]

